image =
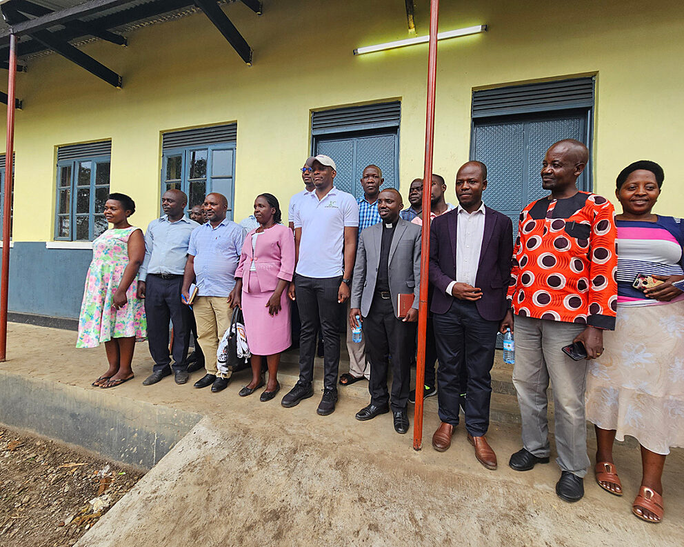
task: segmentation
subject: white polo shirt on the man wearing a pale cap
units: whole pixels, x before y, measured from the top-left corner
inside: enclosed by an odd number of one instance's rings
[[[301,228],[295,272],[319,279],[342,275],[344,229],[358,226],[359,204],[354,196],[334,186],[320,200],[315,190],[307,192],[294,212],[294,228]]]

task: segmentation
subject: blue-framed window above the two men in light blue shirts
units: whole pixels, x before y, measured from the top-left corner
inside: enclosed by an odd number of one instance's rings
[[[188,195],[188,210],[211,192],[228,200],[233,217],[237,124],[165,133],[162,137],[161,193],[173,188]]]

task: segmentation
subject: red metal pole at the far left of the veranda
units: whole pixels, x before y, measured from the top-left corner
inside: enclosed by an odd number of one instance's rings
[[[5,155],[5,201],[2,214],[2,270],[0,272],[0,361],[7,355],[7,299],[10,291],[10,211],[14,179],[14,88],[17,81],[17,37],[10,34],[10,77],[7,86],[7,152]]]

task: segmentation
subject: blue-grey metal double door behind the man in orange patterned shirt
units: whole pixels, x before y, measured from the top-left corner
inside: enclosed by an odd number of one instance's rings
[[[553,143],[576,139],[592,150],[594,78],[576,78],[478,90],[472,94],[470,158],[487,166],[483,200],[511,217],[548,194],[541,163]],[[592,189],[587,165],[578,186]]]

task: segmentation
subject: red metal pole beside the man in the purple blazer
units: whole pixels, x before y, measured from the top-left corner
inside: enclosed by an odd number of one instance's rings
[[[434,141],[434,90],[437,80],[437,26],[439,0],[430,0],[430,52],[427,61],[427,117],[425,121],[425,170],[423,171],[423,238],[421,242],[421,301],[418,308],[418,355],[416,358],[416,408],[413,417],[413,449],[423,446],[423,385],[425,383],[425,336],[427,334],[427,268],[430,262],[430,190],[432,189],[432,143]]]

